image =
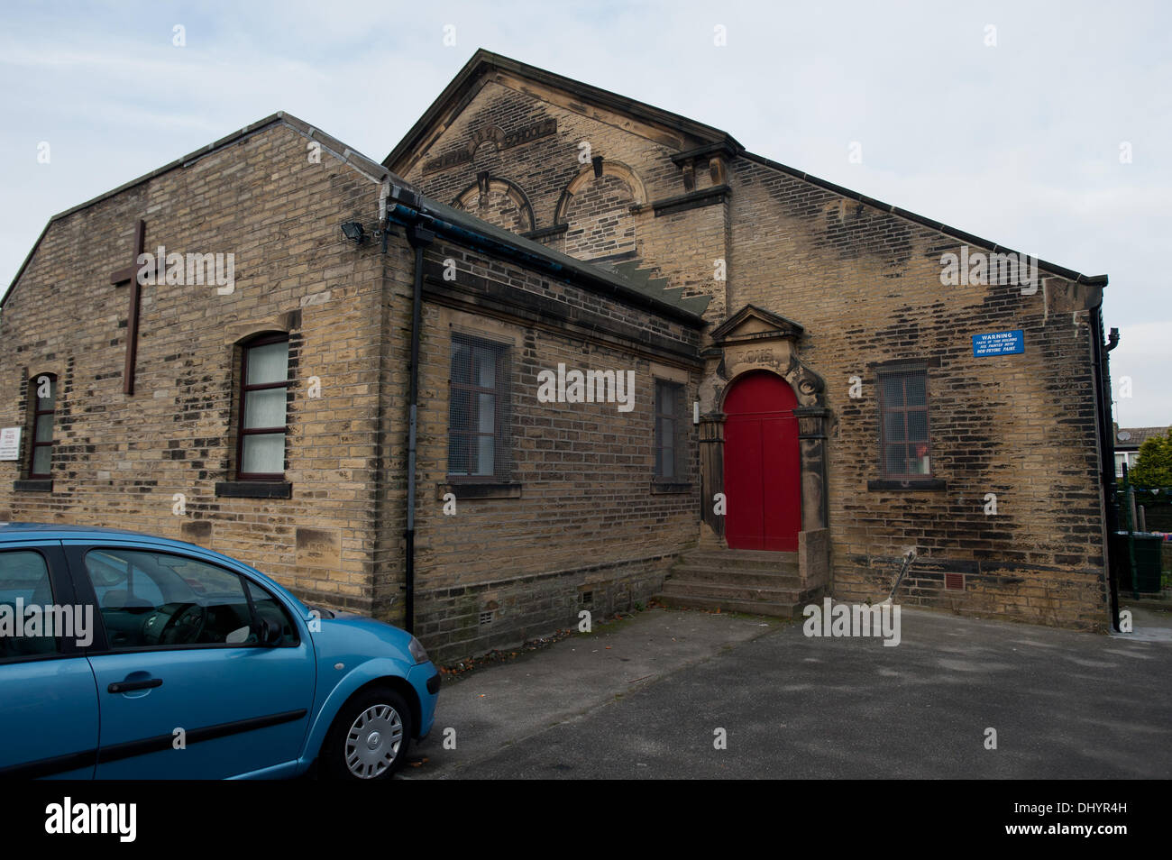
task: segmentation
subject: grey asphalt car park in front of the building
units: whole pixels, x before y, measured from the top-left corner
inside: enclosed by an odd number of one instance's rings
[[[1172,641],[1151,626],[1106,636],[904,609],[901,627],[885,647],[659,608],[597,624],[447,683],[400,776],[1172,776]]]

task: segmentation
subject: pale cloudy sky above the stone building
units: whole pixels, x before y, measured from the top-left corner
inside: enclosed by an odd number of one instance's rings
[[[1160,1],[6,0],[0,291],[53,214],[278,110],[382,161],[481,47],[1108,274],[1117,421],[1172,423]]]

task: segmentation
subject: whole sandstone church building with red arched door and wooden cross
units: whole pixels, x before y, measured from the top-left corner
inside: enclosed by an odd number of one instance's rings
[[[881,600],[912,550],[905,603],[1102,629],[1105,285],[478,52],[381,165],[277,114],[53,218],[0,519],[182,537],[441,658]]]

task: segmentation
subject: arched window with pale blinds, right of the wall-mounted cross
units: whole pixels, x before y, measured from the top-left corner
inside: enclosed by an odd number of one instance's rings
[[[288,335],[268,335],[244,348],[240,368],[240,426],[237,477],[284,480]]]

